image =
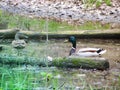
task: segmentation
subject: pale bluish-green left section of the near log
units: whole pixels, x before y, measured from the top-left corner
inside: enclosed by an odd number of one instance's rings
[[[40,65],[45,66],[44,59],[38,59],[35,57],[28,57],[28,56],[14,56],[14,55],[7,55],[1,54],[0,55],[0,64],[30,64],[30,65]]]

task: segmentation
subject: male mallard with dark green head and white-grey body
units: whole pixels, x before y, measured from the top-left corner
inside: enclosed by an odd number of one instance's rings
[[[91,57],[91,56],[101,56],[106,52],[102,48],[81,48],[77,53],[76,52],[76,38],[74,36],[69,37],[69,42],[72,43],[72,49],[70,50],[69,55],[75,54],[77,56]]]

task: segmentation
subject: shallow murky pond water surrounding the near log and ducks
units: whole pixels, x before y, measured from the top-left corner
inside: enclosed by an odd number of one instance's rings
[[[48,42],[29,41],[25,49],[21,50],[21,55],[44,58],[46,56],[67,57],[71,49],[69,42],[65,40],[49,40]],[[11,41],[9,41],[11,42]],[[2,43],[5,49],[0,53],[17,55],[17,50],[12,48],[11,43]],[[119,40],[99,40],[99,39],[81,39],[77,40],[77,49],[83,47],[101,47],[107,50],[102,57],[110,62],[110,69],[107,71],[70,69],[57,67],[38,67],[22,65],[18,67],[6,68],[2,65],[0,79],[1,88],[16,87],[23,90],[25,87],[29,90],[118,90],[120,88],[120,41]],[[8,50],[7,50],[8,48]],[[8,72],[9,73],[6,73]],[[15,72],[16,76],[12,72]],[[12,73],[12,74],[11,74]],[[14,76],[15,85],[9,85],[8,79]],[[21,79],[21,80],[19,80]],[[22,82],[26,80],[27,82]],[[18,83],[19,82],[19,83]],[[21,84],[21,83],[24,84]],[[23,86],[22,86],[23,85]],[[26,85],[26,86],[25,86]],[[31,89],[32,88],[32,89]]]

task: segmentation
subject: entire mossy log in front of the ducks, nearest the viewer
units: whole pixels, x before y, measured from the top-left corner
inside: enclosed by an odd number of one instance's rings
[[[30,64],[39,66],[56,66],[61,68],[83,68],[106,70],[109,68],[109,62],[103,58],[54,58],[49,61],[47,58],[35,58],[27,56],[0,55],[1,64]]]

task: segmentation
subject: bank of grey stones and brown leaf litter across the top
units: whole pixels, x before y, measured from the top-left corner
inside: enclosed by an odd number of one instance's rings
[[[82,24],[85,21],[120,24],[120,1],[111,6],[85,8],[81,0],[1,0],[0,8],[10,13]]]

